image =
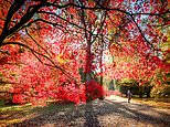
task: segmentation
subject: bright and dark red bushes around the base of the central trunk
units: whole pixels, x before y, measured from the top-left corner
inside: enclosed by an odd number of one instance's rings
[[[76,86],[75,84],[70,84],[66,86],[59,86],[56,88],[57,93],[54,94],[54,98],[61,102],[68,103],[86,103],[87,100],[94,100],[96,98],[104,98],[103,86],[96,81],[89,81],[85,87],[85,84]]]

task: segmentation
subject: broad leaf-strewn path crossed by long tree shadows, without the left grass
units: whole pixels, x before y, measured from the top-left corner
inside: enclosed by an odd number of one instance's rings
[[[53,109],[10,127],[170,127],[170,109],[111,96],[73,109]]]

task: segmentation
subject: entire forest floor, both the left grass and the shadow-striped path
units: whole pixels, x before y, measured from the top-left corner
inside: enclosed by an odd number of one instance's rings
[[[170,127],[170,108],[141,100],[109,96],[75,107],[51,104],[46,107],[7,106],[0,108],[0,127]]]

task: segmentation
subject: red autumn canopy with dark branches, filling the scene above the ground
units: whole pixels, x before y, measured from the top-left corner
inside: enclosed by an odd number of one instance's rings
[[[168,0],[0,0],[1,83],[20,103],[77,103],[83,92],[94,96],[88,85],[103,94],[106,75],[161,84],[167,77],[157,80],[157,72],[170,72],[169,7]]]

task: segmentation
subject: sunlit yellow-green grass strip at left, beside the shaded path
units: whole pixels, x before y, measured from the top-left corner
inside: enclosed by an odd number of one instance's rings
[[[25,105],[1,105],[0,106],[0,126],[6,126],[14,123],[21,123],[25,119],[32,118],[36,115],[52,113],[54,110],[72,110],[75,106],[73,104],[49,104],[44,107]]]

